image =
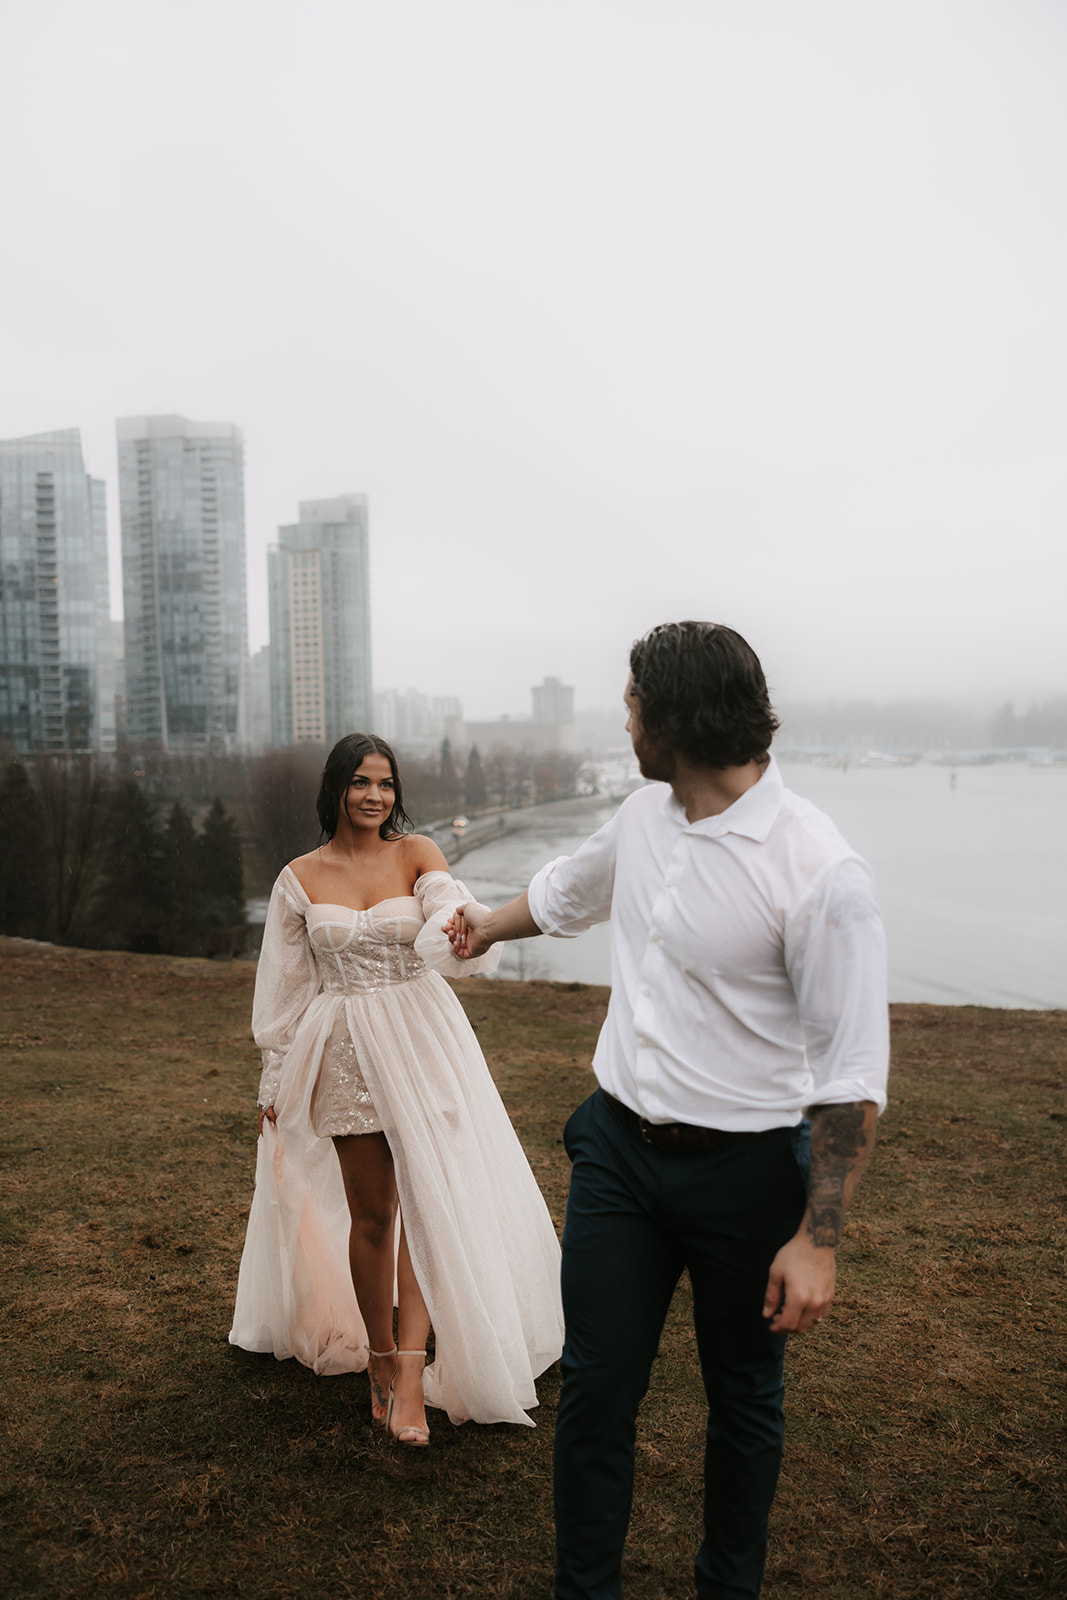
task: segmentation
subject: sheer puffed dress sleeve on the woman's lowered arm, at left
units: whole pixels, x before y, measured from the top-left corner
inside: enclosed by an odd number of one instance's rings
[[[262,1050],[258,1096],[261,1106],[274,1104],[285,1053],[293,1043],[304,1011],[318,994],[318,973],[307,941],[306,909],[299,885],[286,867],[270,893],[251,1006],[253,1037]]]

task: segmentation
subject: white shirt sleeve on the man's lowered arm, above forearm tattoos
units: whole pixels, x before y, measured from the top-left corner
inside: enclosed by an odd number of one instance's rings
[[[809,1106],[873,1101],[885,1110],[886,941],[864,861],[838,861],[811,886],[787,920],[785,965],[811,1070]]]

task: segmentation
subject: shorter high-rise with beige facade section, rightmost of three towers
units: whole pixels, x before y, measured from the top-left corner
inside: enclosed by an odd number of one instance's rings
[[[366,496],[301,501],[267,552],[270,731],[278,747],[371,726]]]

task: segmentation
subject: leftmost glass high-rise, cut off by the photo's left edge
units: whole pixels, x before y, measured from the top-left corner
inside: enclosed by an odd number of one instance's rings
[[[0,738],[115,749],[104,483],[77,427],[0,442]]]

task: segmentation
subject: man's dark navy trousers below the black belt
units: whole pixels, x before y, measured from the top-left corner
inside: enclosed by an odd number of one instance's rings
[[[685,1269],[704,1389],[699,1600],[753,1600],[782,1456],[784,1334],[768,1267],[805,1210],[797,1134],[653,1150],[597,1091],[565,1128],[563,1392],[555,1434],[557,1600],[619,1600],[637,1411]]]

